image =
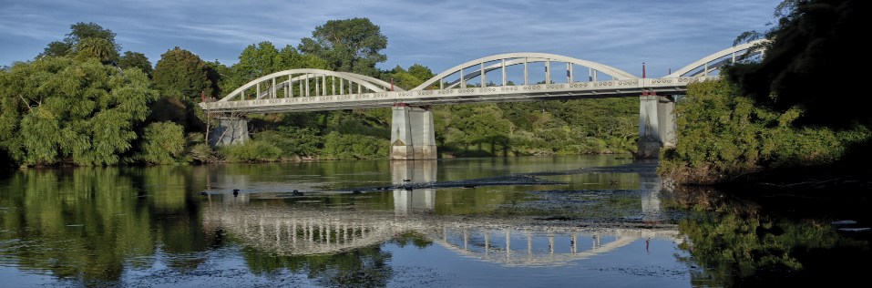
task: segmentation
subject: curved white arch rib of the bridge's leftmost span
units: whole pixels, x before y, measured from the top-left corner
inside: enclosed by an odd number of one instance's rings
[[[297,75],[297,74],[339,77],[341,79],[348,80],[348,81],[351,81],[352,83],[366,87],[370,90],[373,90],[374,92],[385,92],[385,91],[387,91],[386,87],[391,87],[390,83],[387,83],[383,80],[376,79],[374,77],[360,75],[360,74],[354,74],[354,73],[350,73],[350,72],[335,72],[335,71],[323,70],[323,69],[301,68],[301,69],[290,69],[290,70],[279,71],[279,72],[272,73],[270,75],[266,75],[266,76],[251,80],[250,82],[246,83],[245,85],[243,85],[239,88],[236,88],[235,90],[233,90],[233,92],[231,92],[230,94],[227,94],[227,96],[225,96],[224,98],[221,98],[221,100],[219,100],[219,101],[229,101],[231,98],[234,98],[234,97],[240,95],[242,91],[244,91],[248,88],[251,88],[251,87],[255,87],[256,85],[258,85],[259,83],[261,83],[263,81],[266,81],[266,80],[269,80],[272,78],[278,78],[278,77],[283,77],[283,76],[292,76],[292,75]],[[293,77],[291,80],[296,82],[296,81],[302,80],[303,78],[305,78],[305,77]],[[282,81],[282,83],[285,83],[287,81],[288,80],[285,79],[284,81]],[[397,87],[395,87],[395,90],[403,91],[403,89],[400,89]],[[260,98],[261,96],[258,95],[257,97]]]

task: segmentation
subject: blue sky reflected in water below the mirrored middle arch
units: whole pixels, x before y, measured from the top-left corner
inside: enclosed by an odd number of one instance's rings
[[[640,239],[596,258],[557,267],[505,267],[457,255],[439,245],[426,249],[385,245],[391,265],[436,278],[436,286],[469,287],[685,287],[690,273],[672,254],[668,239],[651,239],[651,253]],[[426,261],[421,261],[426,259]],[[399,275],[402,276],[402,275]],[[414,276],[414,275],[409,275]],[[407,281],[395,277],[394,283]]]

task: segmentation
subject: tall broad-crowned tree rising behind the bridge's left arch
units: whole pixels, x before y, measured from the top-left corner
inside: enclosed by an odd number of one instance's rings
[[[387,37],[368,18],[327,21],[301,42],[301,52],[323,58],[337,71],[378,77],[375,64],[387,60],[379,53],[387,47]]]

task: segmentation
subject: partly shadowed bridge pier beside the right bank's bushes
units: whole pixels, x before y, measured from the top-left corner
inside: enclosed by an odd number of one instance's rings
[[[675,99],[645,92],[639,97],[639,149],[636,157],[658,158],[661,148],[675,147]]]

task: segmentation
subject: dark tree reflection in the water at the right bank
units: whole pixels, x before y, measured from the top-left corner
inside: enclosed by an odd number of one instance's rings
[[[670,199],[669,205],[692,211],[679,221],[679,231],[689,240],[679,247],[702,265],[692,272],[694,286],[865,282],[867,265],[857,262],[872,256],[869,235],[837,231],[832,223],[839,219],[820,202],[816,215],[796,218],[794,210],[804,205],[796,199],[764,207],[690,187],[672,191]]]

